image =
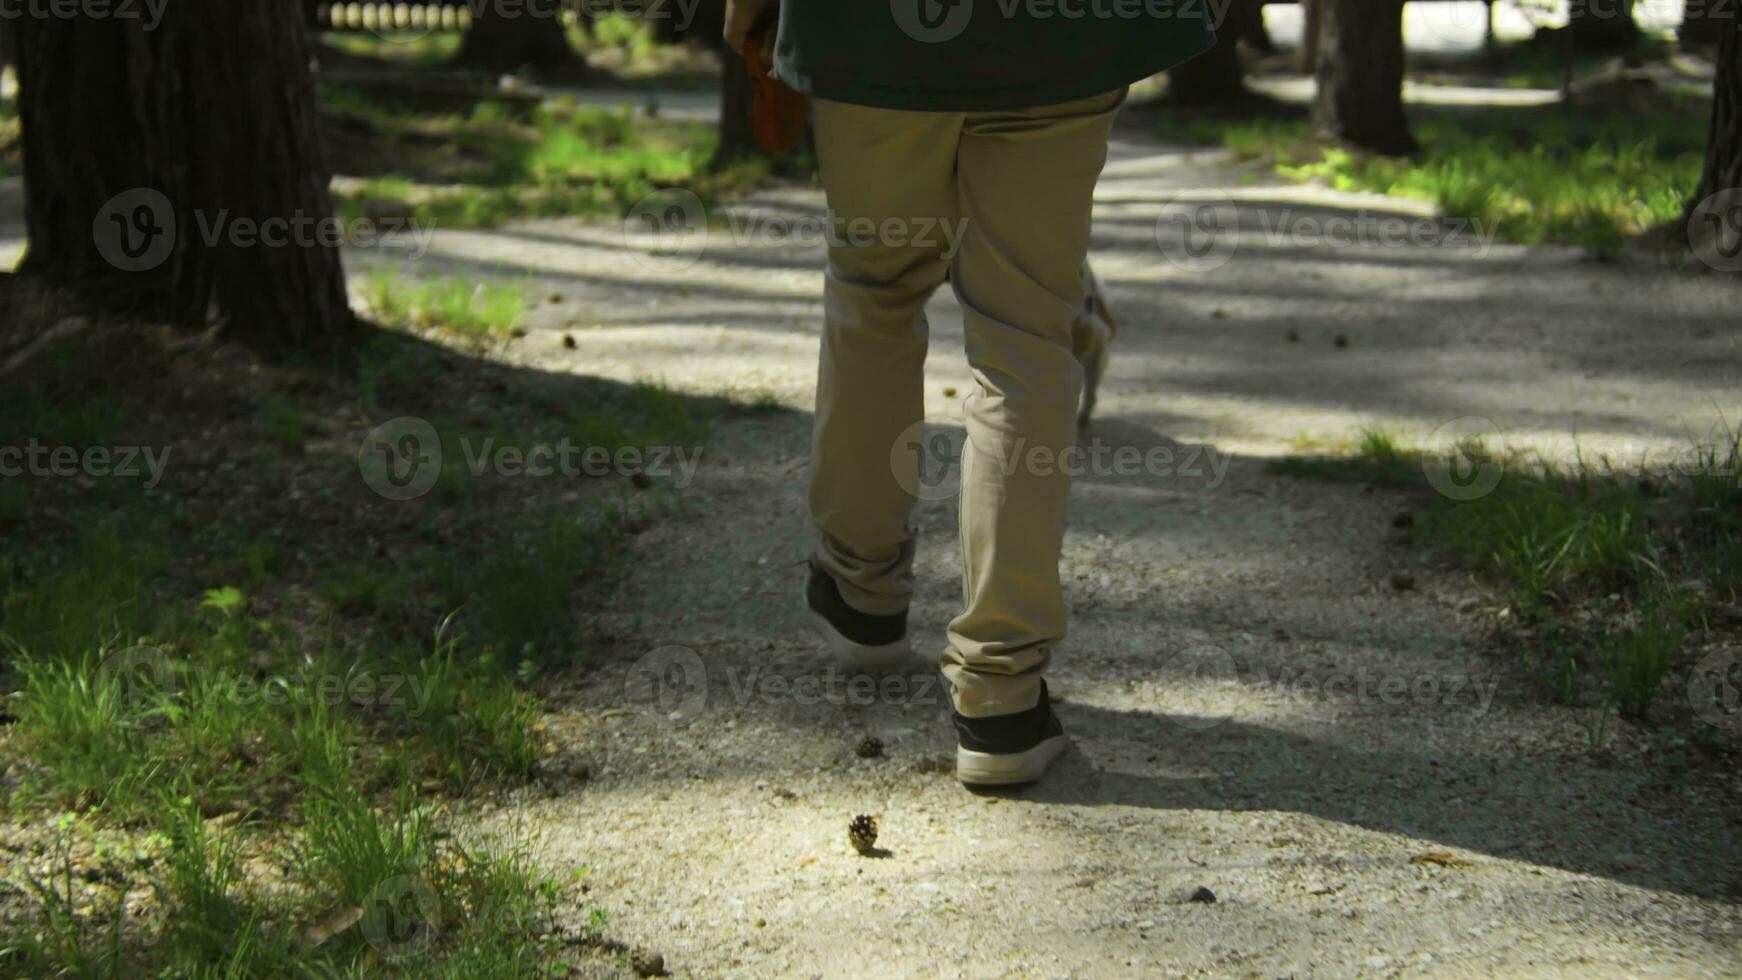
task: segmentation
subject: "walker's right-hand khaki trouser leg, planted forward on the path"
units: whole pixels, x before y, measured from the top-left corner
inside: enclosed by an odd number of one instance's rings
[[[1089,211],[1124,92],[969,113],[958,151],[967,233],[951,279],[967,320],[962,581],[942,668],[965,717],[1030,710],[1064,639],[1059,548],[1077,446]]]

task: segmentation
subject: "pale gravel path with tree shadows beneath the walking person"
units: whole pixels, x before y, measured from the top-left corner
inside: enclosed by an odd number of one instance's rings
[[[1157,244],[1183,191],[1240,198],[1226,265],[1193,273]],[[791,188],[740,214],[819,209]],[[679,975],[1742,971],[1735,795],[1653,764],[1644,729],[1594,757],[1589,715],[1528,700],[1479,654],[1479,588],[1395,541],[1401,501],[1265,472],[1361,425],[1486,416],[1559,453],[1742,423],[1742,294],[1552,249],[1266,233],[1361,209],[1420,214],[1120,138],[1094,261],[1124,332],[1090,439],[1195,454],[1198,475],[1078,480],[1054,679],[1077,750],[1010,797],[948,773],[928,661],[869,696],[805,686],[820,245],[716,232],[678,268],[617,226],[437,235],[425,272],[537,270],[550,301],[512,357],[794,409],[723,423],[683,512],[638,540],[608,616],[624,642],[549,719],[592,778],[486,822],[589,867],[611,933]],[[932,313],[928,407],[958,426],[960,315],[948,296]],[[955,501],[918,524],[930,658],[958,601]],[[650,688],[650,665],[674,682]],[[864,735],[881,757],[857,757]],[[887,856],[848,848],[855,813],[881,815]],[[1186,902],[1198,886],[1216,900]]]

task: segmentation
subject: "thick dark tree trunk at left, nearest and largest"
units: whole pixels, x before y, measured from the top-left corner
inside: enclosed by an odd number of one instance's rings
[[[270,352],[350,339],[303,7],[179,0],[28,12],[21,272]]]

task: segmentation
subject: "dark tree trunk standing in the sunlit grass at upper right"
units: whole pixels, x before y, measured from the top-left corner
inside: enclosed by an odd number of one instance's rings
[[[1313,127],[1376,153],[1413,153],[1404,115],[1402,0],[1320,0],[1324,42]]]

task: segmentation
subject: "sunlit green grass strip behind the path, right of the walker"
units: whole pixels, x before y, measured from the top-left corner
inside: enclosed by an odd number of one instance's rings
[[[1610,256],[1627,237],[1678,221],[1698,186],[1705,127],[1698,106],[1662,113],[1580,108],[1418,110],[1413,158],[1326,146],[1305,120],[1167,120],[1164,129],[1272,160],[1280,176],[1348,191],[1435,204],[1448,218],[1493,225],[1502,240],[1578,245]]]

